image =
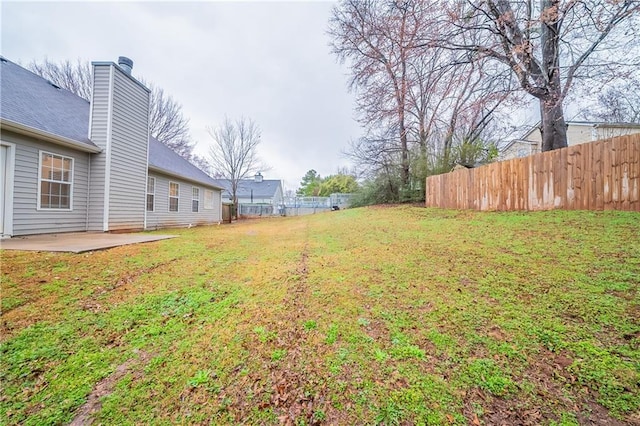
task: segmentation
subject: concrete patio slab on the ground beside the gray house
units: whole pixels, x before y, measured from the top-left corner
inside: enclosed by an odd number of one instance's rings
[[[127,244],[147,243],[174,237],[177,237],[177,235],[69,232],[4,239],[0,240],[0,249],[83,253],[86,251],[104,250]]]

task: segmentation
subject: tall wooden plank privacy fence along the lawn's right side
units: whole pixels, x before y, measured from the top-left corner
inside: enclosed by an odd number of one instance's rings
[[[427,207],[640,211],[640,133],[427,178]]]

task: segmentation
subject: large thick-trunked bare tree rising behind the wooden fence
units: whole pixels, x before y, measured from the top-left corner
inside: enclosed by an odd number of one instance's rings
[[[637,35],[622,28],[633,19],[637,24],[637,0],[469,0],[443,6],[450,6],[452,26],[437,43],[511,70],[540,102],[543,151],[567,146],[563,102],[574,80],[637,66],[637,57],[629,55]]]

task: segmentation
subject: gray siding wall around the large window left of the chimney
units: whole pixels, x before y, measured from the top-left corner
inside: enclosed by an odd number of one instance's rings
[[[0,137],[16,145],[13,235],[86,231],[90,154],[7,131]],[[71,211],[37,209],[40,150],[73,158]]]

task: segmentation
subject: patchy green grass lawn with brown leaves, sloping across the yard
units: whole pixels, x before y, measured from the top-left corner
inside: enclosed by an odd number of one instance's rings
[[[637,213],[175,233],[2,252],[0,423],[640,424]]]

